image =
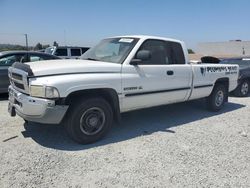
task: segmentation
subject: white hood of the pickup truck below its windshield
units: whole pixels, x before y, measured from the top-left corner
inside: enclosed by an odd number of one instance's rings
[[[26,64],[30,66],[35,77],[70,73],[117,73],[121,71],[121,64],[77,59],[36,61]]]

